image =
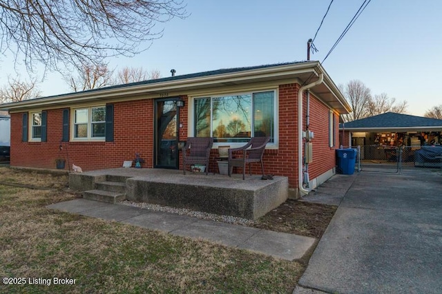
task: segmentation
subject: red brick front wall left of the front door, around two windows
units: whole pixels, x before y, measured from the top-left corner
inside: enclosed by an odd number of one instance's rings
[[[115,103],[114,142],[61,142],[62,112],[48,110],[47,142],[21,142],[22,114],[11,115],[12,166],[53,169],[55,158],[64,157],[88,171],[122,167],[137,152],[146,160],[143,167],[153,167],[153,100]]]

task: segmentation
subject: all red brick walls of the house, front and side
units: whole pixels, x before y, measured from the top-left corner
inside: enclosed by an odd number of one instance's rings
[[[278,149],[267,149],[264,155],[266,174],[288,176],[289,187],[298,187],[298,84],[280,85],[278,92]],[[180,109],[179,140],[186,140],[189,129],[187,96]],[[153,167],[153,99],[126,101],[114,105],[114,142],[66,142],[61,143],[62,110],[48,110],[48,142],[21,142],[21,115],[11,115],[11,165],[17,167],[55,168],[55,158],[63,156],[68,163],[79,165],[84,171],[121,167],[124,160],[133,160],[135,152],[146,160],[143,167]],[[304,103],[304,108],[306,107]],[[310,178],[315,178],[335,165],[334,149],[329,147],[329,109],[311,95],[310,129],[313,140],[314,162],[309,166]],[[305,112],[304,112],[305,115]],[[338,118],[336,117],[336,146],[338,146]],[[59,146],[63,149],[60,151]],[[211,153],[211,171],[217,171],[215,157]],[[66,169],[68,167],[66,166]],[[182,158],[180,156],[180,169]],[[238,172],[242,172],[238,169]],[[248,170],[247,170],[248,172]],[[260,165],[252,165],[252,173],[260,174]]]

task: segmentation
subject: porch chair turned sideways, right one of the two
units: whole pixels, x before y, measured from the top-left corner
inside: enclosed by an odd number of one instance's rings
[[[233,167],[241,167],[242,180],[244,180],[246,163],[249,163],[249,174],[251,175],[251,162],[261,162],[262,176],[264,176],[262,155],[264,154],[265,146],[269,143],[269,140],[270,137],[253,137],[246,145],[229,149],[229,176],[231,176],[233,172]]]

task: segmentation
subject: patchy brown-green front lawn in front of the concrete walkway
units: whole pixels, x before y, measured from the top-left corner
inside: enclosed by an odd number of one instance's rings
[[[305,266],[46,209],[73,194],[0,185],[0,293],[291,293]],[[53,284],[53,277],[75,279]],[[46,279],[50,286],[29,284]],[[30,279],[30,280],[29,280]]]

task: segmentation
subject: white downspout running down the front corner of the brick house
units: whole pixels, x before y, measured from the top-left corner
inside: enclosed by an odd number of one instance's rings
[[[302,172],[302,163],[304,162],[304,160],[302,160],[302,98],[305,90],[323,83],[323,80],[324,74],[319,74],[319,78],[316,82],[300,87],[298,90],[298,189],[301,196],[309,193],[309,190],[302,187],[302,178],[304,177],[304,173]]]

